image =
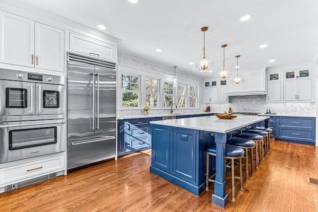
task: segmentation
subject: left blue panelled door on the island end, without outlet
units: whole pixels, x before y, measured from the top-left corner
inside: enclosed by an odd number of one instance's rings
[[[152,125],[152,166],[171,172],[172,134],[170,127]]]

